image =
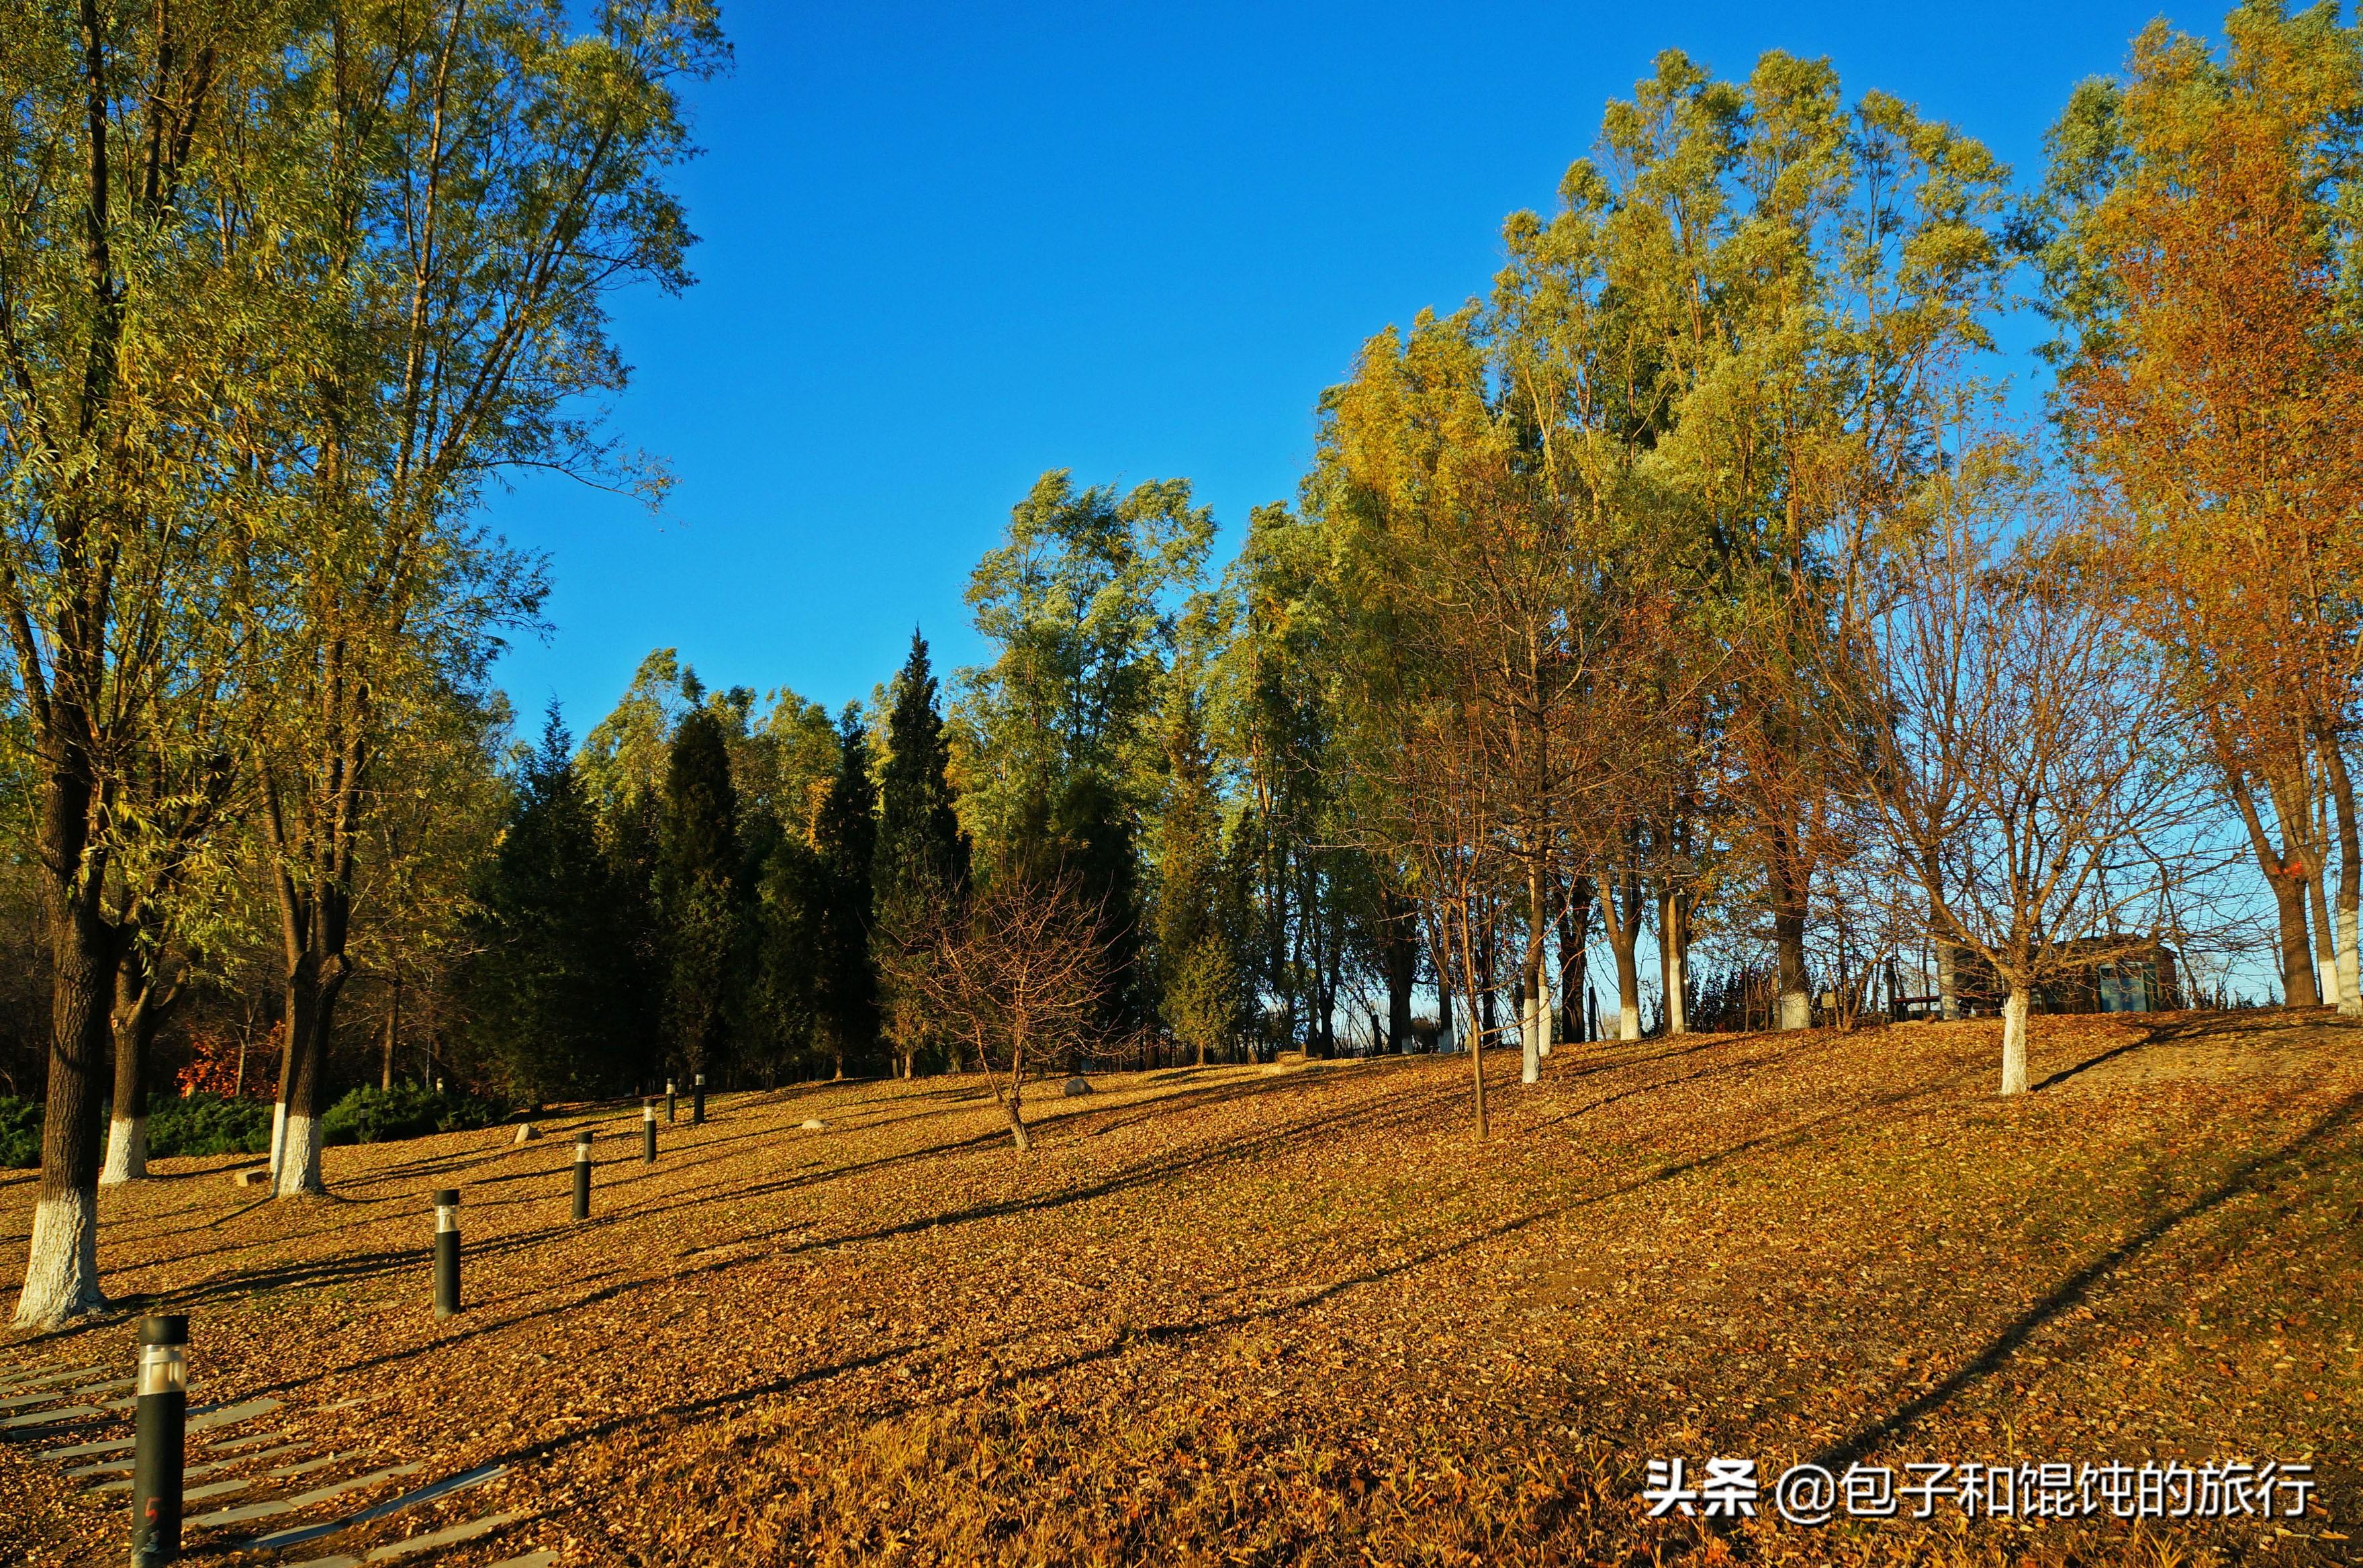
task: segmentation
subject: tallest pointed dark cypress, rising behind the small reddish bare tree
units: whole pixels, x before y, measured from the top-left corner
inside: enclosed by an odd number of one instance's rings
[[[926,942],[966,897],[969,838],[952,815],[950,760],[926,638],[912,631],[886,718],[874,886],[879,945],[912,949]],[[881,989],[884,1027],[907,1074],[929,1041],[926,1011],[917,997],[891,985]]]

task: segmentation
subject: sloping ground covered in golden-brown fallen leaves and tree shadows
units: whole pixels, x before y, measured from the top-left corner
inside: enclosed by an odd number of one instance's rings
[[[2363,1030],[2037,1020],[2018,1103],[1978,1023],[1562,1048],[1538,1089],[1498,1060],[1486,1145],[1465,1058],[1101,1079],[1023,1159],[962,1079],[725,1096],[655,1171],[624,1112],[586,1226],[588,1117],[331,1150],[319,1204],[163,1162],[106,1195],[102,1256],[128,1311],[194,1315],[201,1398],[510,1464],[319,1547],[354,1556],[501,1507],[532,1518],[437,1561],[2344,1561]],[[31,1195],[0,1185],[9,1278]],[[116,1318],[0,1367],[128,1346]],[[2311,1459],[2328,1514],[1640,1516],[1649,1457],[1831,1452]],[[121,1561],[121,1495],[69,1488],[0,1445],[0,1556]]]

